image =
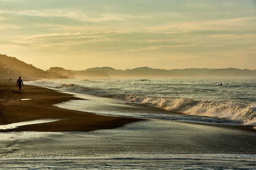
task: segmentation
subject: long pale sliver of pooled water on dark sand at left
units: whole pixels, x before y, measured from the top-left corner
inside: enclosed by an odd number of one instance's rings
[[[15,129],[22,125],[44,124],[44,123],[49,123],[49,122],[56,122],[58,120],[60,120],[60,119],[40,119],[40,120],[31,120],[31,121],[26,121],[26,122],[17,122],[17,123],[8,124],[8,125],[0,125],[0,129],[1,130]]]

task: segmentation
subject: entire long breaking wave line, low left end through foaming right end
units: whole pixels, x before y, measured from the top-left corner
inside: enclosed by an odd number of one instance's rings
[[[224,103],[220,101],[194,100],[189,98],[124,96],[122,94],[110,94],[104,89],[74,84],[60,84],[58,88],[93,96],[125,99],[125,103],[127,104],[139,104],[161,108],[163,110],[175,111],[186,115],[228,118],[230,120],[239,121],[243,125],[253,125],[256,127],[256,105],[252,104]]]

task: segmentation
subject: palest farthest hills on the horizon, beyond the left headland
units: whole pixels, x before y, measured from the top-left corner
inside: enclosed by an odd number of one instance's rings
[[[256,70],[249,69],[153,69],[150,67],[137,67],[134,69],[117,70],[111,67],[94,67],[86,69],[107,73],[111,78],[168,78],[168,77],[237,77],[256,76]]]

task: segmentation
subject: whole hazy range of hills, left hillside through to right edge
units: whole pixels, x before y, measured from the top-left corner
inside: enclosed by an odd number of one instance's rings
[[[0,54],[0,78],[61,79],[61,78],[168,78],[168,77],[255,77],[256,70],[250,69],[153,69],[137,67],[134,69],[114,69],[112,67],[93,67],[83,71],[74,71],[62,67],[51,67],[47,71],[26,64],[15,57]]]

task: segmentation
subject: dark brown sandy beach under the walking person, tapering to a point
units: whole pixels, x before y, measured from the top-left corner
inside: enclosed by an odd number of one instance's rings
[[[95,131],[99,129],[114,129],[143,120],[140,118],[111,117],[84,111],[61,109],[52,106],[52,104],[79,98],[43,87],[24,85],[21,94],[19,94],[14,83],[1,82],[0,96],[0,125],[31,120],[60,119],[56,122],[22,125],[15,129],[0,129],[0,132]]]

